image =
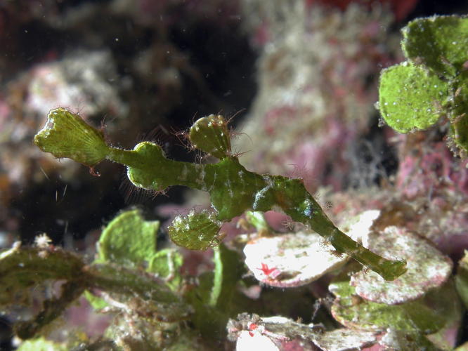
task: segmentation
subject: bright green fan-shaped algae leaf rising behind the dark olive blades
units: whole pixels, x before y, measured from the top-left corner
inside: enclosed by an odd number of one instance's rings
[[[103,230],[98,242],[98,262],[140,267],[156,253],[158,221],[144,220],[139,210],[120,213]]]

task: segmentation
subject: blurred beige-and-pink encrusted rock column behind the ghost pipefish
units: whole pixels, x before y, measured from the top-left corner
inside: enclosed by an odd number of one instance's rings
[[[365,77],[377,77],[392,61],[385,32],[391,13],[356,4],[342,13],[301,1],[243,1],[242,8],[245,27],[255,38],[264,33],[266,43],[259,93],[242,128],[250,139],[241,135],[234,148],[254,145],[243,160],[255,171],[296,174],[312,192],[318,185],[343,189],[352,145],[367,131],[377,98],[375,79],[369,84]]]

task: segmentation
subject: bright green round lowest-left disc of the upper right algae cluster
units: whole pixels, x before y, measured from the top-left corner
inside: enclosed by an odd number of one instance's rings
[[[386,124],[399,133],[435,124],[447,96],[446,82],[409,62],[384,69],[380,75],[379,110]]]

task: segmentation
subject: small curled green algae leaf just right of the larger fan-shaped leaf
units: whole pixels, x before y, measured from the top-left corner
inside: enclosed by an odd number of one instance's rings
[[[157,274],[172,290],[177,291],[182,283],[180,272],[182,265],[181,253],[174,249],[164,249],[152,256],[147,272]]]

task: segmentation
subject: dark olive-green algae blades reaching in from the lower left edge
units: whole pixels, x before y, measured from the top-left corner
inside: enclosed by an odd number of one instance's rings
[[[176,274],[174,277],[178,278]],[[12,249],[0,252],[0,307],[28,306],[38,286],[53,282],[62,283],[60,292],[44,296],[39,313],[15,324],[15,334],[20,338],[37,336],[85,291],[93,306],[107,307],[108,304],[103,304],[107,301],[91,295],[90,291],[96,289],[117,301],[117,305],[130,304],[132,307],[127,308],[134,313],[144,311],[147,318],[158,321],[186,319],[193,311],[163,279],[138,267],[102,262],[86,265],[73,253],[48,244],[37,247],[15,244]]]

